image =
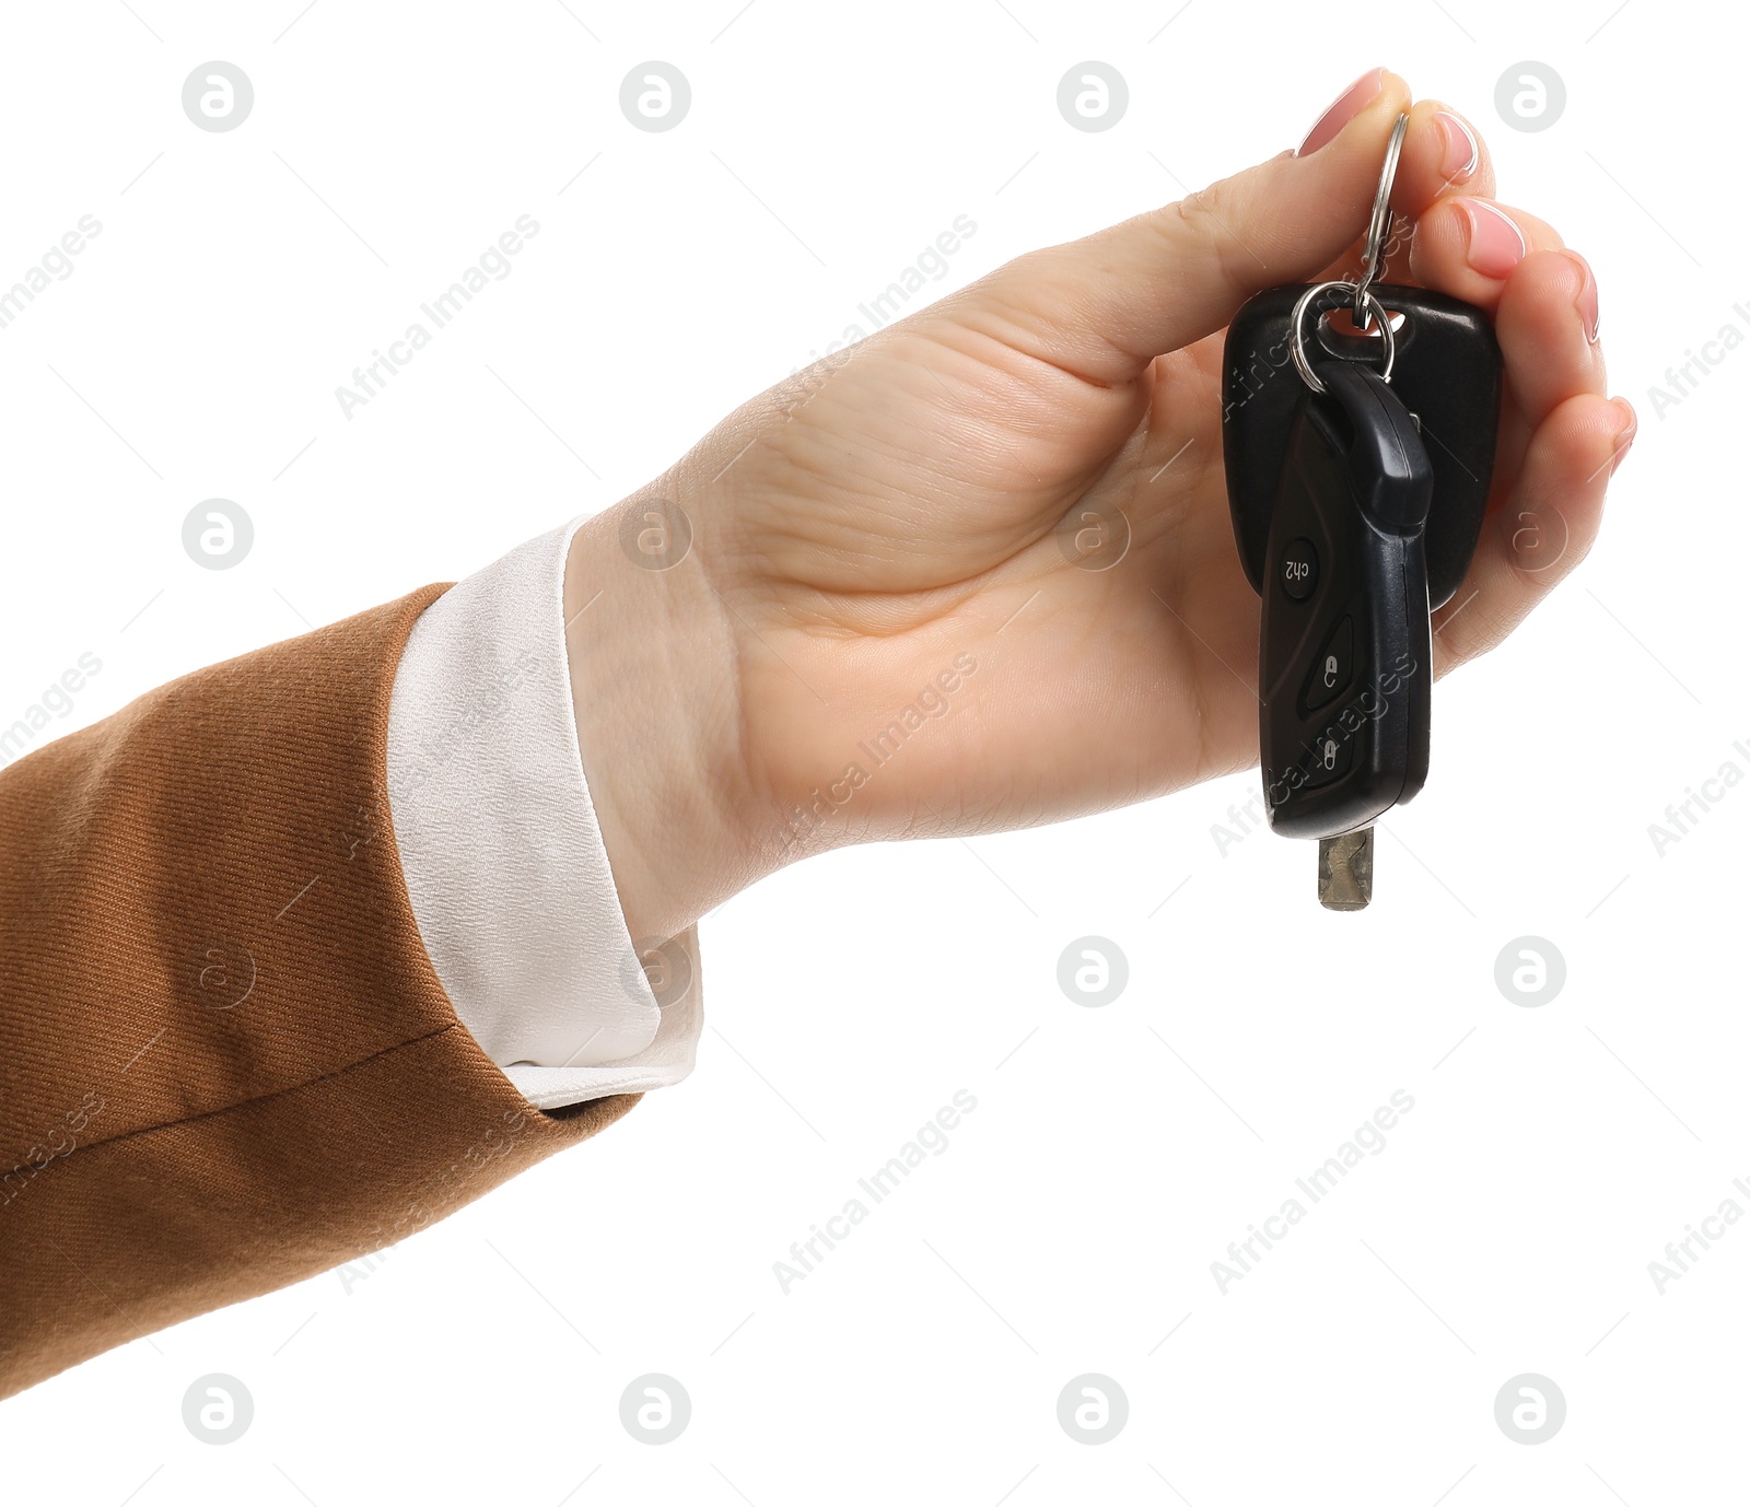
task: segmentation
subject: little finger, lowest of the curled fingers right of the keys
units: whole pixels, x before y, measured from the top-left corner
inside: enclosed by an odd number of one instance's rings
[[[1620,397],[1578,394],[1545,417],[1505,504],[1482,523],[1463,585],[1435,613],[1437,676],[1493,649],[1586,558],[1633,439],[1634,410]]]

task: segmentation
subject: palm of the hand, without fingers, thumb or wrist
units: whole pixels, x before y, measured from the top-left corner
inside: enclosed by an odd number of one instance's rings
[[[728,557],[760,560],[721,588],[772,786],[858,765],[844,814],[880,835],[1045,821],[1250,763],[1256,597],[1227,518],[1218,361],[1211,336],[1102,387],[896,329],[765,425],[712,516]],[[1083,527],[1106,530],[1090,555]],[[976,669],[943,697],[954,716],[931,698],[908,728],[957,655]],[[903,746],[878,739],[896,718]]]

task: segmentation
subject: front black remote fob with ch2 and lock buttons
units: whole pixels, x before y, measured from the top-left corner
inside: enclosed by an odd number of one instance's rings
[[[1270,826],[1330,838],[1428,775],[1435,467],[1376,371],[1312,368],[1323,394],[1288,375],[1300,396],[1264,536],[1258,732]]]

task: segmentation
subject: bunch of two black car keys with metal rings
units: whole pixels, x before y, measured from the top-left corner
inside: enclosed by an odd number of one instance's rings
[[[1414,796],[1426,777],[1428,614],[1454,595],[1475,551],[1500,415],[1502,355],[1488,317],[1426,289],[1374,282],[1407,128],[1409,117],[1400,116],[1374,198],[1362,275],[1256,294],[1228,326],[1223,354],[1223,459],[1234,537],[1246,576],[1264,597],[1265,807],[1278,831],[1320,838],[1320,901],[1334,910],[1368,903],[1372,821]],[[1353,310],[1349,329],[1334,319],[1344,308]],[[1332,373],[1365,373],[1372,389],[1346,375],[1330,380]],[[1386,389],[1396,408],[1374,389]],[[1404,418],[1421,443],[1424,518],[1419,530],[1382,530],[1381,516],[1404,520],[1410,516],[1405,508],[1414,511],[1409,494],[1388,495],[1419,469],[1404,439]],[[1391,474],[1368,480],[1367,466]],[[1372,511],[1362,506],[1363,495]],[[1316,567],[1283,551],[1314,536],[1279,527],[1283,506],[1298,509],[1297,516],[1311,509],[1334,530],[1328,548],[1339,550],[1326,560],[1323,583],[1302,599],[1312,602],[1316,593],[1320,606],[1298,618],[1292,611],[1298,604],[1283,595],[1286,574]],[[1360,523],[1351,516],[1356,511]],[[1396,585],[1384,565],[1393,551],[1407,572]],[[1421,602],[1412,581],[1418,574]],[[1337,599],[1349,611],[1337,611]],[[1293,621],[1314,627],[1297,635]],[[1393,669],[1400,662],[1404,672]],[[1348,695],[1314,688],[1314,677],[1342,677]],[[1328,704],[1314,705],[1314,695],[1325,691],[1337,697],[1335,712],[1320,723]],[[1377,707],[1379,719],[1346,742],[1330,726],[1354,698]]]

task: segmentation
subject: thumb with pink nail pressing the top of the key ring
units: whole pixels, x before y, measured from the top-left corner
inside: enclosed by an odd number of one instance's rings
[[[1157,355],[1222,329],[1256,291],[1304,282],[1367,228],[1386,140],[1409,86],[1358,79],[1283,152],[1078,242],[1029,252],[942,305],[1087,382],[1115,385]]]

